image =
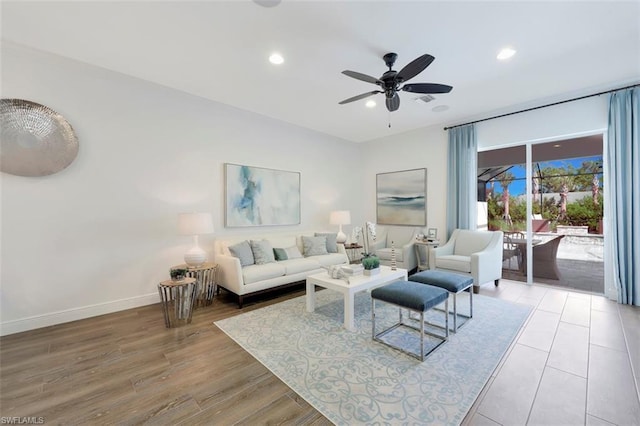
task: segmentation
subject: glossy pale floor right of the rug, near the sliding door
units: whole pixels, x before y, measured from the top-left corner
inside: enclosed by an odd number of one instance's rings
[[[535,309],[463,425],[640,425],[640,308],[502,280],[480,294]]]

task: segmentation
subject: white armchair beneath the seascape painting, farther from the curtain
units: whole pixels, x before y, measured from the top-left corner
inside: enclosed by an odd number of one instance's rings
[[[396,265],[398,268],[411,271],[418,267],[414,248],[418,231],[417,228],[410,226],[376,225],[375,241],[367,231],[369,251],[378,256],[382,265],[391,266],[391,242],[393,241]]]

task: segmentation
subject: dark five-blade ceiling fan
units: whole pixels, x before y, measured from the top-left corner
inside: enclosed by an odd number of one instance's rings
[[[376,95],[378,93],[384,93],[385,103],[389,111],[395,111],[400,107],[399,91],[411,92],[411,93],[449,93],[453,87],[446,84],[436,83],[413,83],[404,84],[407,80],[412,79],[416,75],[420,74],[431,65],[431,62],[435,59],[431,55],[422,55],[413,61],[409,62],[399,72],[392,70],[393,64],[396,62],[398,55],[396,53],[387,53],[382,57],[384,63],[389,67],[388,71],[382,74],[382,77],[375,78],[366,74],[362,74],[355,71],[342,71],[342,74],[355,78],[356,80],[366,81],[367,83],[373,83],[380,86],[380,90],[374,90],[372,92],[363,93],[358,96],[354,96],[349,99],[345,99],[342,102],[338,102],[340,105],[347,104],[349,102],[359,101],[369,96]]]

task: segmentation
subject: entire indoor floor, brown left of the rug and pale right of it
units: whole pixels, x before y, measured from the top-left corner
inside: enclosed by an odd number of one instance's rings
[[[2,337],[0,415],[65,425],[330,424],[213,325],[303,294],[239,310],[223,292],[175,329],[151,305]],[[536,309],[465,425],[633,424],[624,416],[640,410],[640,309],[507,280],[481,294]]]

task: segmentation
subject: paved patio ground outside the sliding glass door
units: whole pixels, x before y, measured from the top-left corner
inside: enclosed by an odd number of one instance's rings
[[[536,234],[536,238],[543,234]],[[579,237],[567,235],[558,247],[556,256],[561,277],[559,280],[549,280],[533,277],[535,283],[568,287],[597,294],[604,293],[604,262],[602,236]],[[502,265],[502,277],[515,281],[526,281],[517,266],[515,259],[505,261]]]

